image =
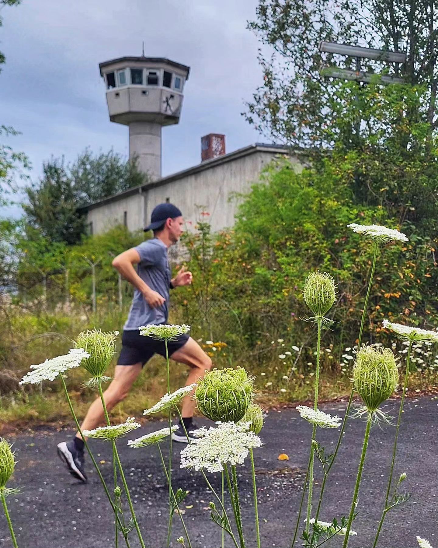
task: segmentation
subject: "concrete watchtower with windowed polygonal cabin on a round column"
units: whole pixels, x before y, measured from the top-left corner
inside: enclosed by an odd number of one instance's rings
[[[110,120],[129,125],[129,157],[152,180],[161,177],[161,128],[180,121],[190,67],[155,57],[100,63]]]

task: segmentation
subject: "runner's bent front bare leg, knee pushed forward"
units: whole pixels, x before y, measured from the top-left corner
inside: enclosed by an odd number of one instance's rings
[[[190,337],[187,343],[171,355],[176,362],[184,363],[190,367],[186,386],[196,383],[205,375],[205,370],[211,369],[211,358],[206,355],[199,344]],[[182,402],[182,418],[191,418],[196,408],[196,402],[192,394],[186,396]]]

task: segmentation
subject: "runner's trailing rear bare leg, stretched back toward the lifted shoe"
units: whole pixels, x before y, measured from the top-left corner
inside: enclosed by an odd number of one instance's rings
[[[106,408],[109,411],[128,396],[132,385],[141,373],[141,363],[136,363],[134,366],[116,366],[114,378],[110,386],[103,392]],[[103,413],[102,402],[100,398],[96,398],[88,409],[87,415],[80,425],[81,430],[93,430],[100,424],[105,422],[105,414]],[[80,438],[79,432],[76,437]]]

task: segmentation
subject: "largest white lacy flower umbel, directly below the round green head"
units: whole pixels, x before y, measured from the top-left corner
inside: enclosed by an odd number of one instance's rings
[[[243,464],[250,449],[262,446],[260,437],[249,431],[250,423],[216,424],[192,432],[198,439],[181,451],[181,468],[221,472],[224,464]]]

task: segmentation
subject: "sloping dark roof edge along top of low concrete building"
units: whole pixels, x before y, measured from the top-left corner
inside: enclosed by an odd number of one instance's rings
[[[108,204],[111,202],[116,202],[120,198],[126,198],[128,196],[141,193],[143,190],[148,190],[148,189],[155,188],[157,186],[165,185],[168,182],[181,179],[182,177],[186,177],[187,175],[192,175],[194,173],[202,172],[205,169],[209,169],[216,165],[230,162],[234,159],[237,159],[243,156],[249,156],[250,154],[253,154],[255,152],[271,152],[271,153],[274,152],[278,154],[290,154],[291,150],[286,145],[276,145],[276,144],[269,145],[262,142],[256,142],[253,145],[245,146],[243,149],[234,150],[233,152],[228,152],[227,154],[223,154],[222,156],[217,156],[216,158],[205,160],[204,162],[194,165],[191,168],[183,169],[180,172],[172,173],[171,175],[162,177],[161,179],[158,179],[157,181],[145,182],[142,185],[133,186],[131,189],[125,190],[123,192],[119,192],[118,194],[114,194],[113,196],[102,198],[101,200],[98,200],[97,202],[80,206],[78,209],[82,212],[87,212],[91,209],[95,209],[96,207],[104,206],[105,204]]]

